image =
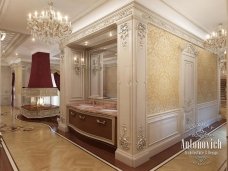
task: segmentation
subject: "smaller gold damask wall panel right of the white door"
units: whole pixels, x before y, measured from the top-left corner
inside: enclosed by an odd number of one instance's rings
[[[217,57],[206,50],[198,48],[197,103],[217,99]]]

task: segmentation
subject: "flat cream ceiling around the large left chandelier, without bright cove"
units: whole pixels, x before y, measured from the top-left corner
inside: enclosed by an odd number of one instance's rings
[[[90,11],[94,10],[107,0],[53,0],[54,7],[61,13],[68,15],[72,22],[80,19]],[[47,7],[48,0],[0,0],[0,30],[8,32],[3,42],[4,56],[10,58],[31,58],[35,51],[51,53],[56,57],[57,45],[47,46],[36,40],[31,41],[26,29],[27,15],[35,10],[41,11]],[[10,31],[9,31],[10,30]],[[21,36],[27,37],[21,41]],[[20,39],[20,44],[17,39]],[[19,45],[19,46],[16,46]],[[7,50],[9,49],[9,50]],[[15,55],[18,53],[18,57]]]

